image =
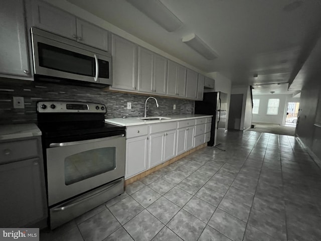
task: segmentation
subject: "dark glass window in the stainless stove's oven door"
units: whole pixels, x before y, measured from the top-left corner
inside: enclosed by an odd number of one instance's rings
[[[65,158],[65,184],[70,185],[116,168],[116,148],[105,147]]]

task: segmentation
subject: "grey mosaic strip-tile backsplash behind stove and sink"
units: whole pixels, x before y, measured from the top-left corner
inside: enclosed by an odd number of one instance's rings
[[[15,109],[13,96],[22,96],[25,108]],[[152,94],[150,95],[152,96]],[[36,82],[0,77],[0,124],[36,123],[36,104],[39,100],[75,100],[103,103],[106,105],[106,118],[126,115],[142,116],[145,99],[148,96],[105,91],[100,88],[64,85],[49,82]],[[147,115],[191,114],[194,113],[194,100],[154,96],[148,100]],[[127,109],[131,102],[131,109]],[[173,109],[176,104],[176,109]]]

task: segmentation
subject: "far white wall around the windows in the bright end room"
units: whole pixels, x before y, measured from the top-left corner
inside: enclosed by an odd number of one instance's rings
[[[278,114],[266,114],[268,99],[280,99]],[[299,102],[299,98],[292,98],[291,94],[262,94],[253,95],[253,99],[260,99],[259,113],[253,114],[253,123],[267,123],[282,125],[286,118],[286,109],[288,102]]]

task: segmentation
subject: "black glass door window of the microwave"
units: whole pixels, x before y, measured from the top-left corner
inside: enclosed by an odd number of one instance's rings
[[[39,66],[72,74],[94,76],[95,59],[55,46],[38,43]]]

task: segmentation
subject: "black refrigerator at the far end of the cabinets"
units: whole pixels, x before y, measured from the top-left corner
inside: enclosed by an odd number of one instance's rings
[[[195,101],[196,114],[209,114],[212,117],[211,139],[208,146],[218,145],[218,133],[225,132],[227,110],[227,94],[219,92],[207,92],[203,95],[202,101]]]

